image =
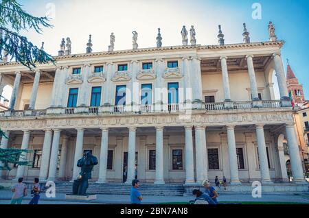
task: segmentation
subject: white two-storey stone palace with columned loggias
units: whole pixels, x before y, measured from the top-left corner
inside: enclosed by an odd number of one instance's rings
[[[0,128],[10,136],[1,148],[33,150],[32,166],[15,166],[3,178],[71,181],[90,150],[99,160],[93,182],[137,176],[194,184],[216,175],[231,184],[282,182],[283,134],[294,181],[304,182],[283,45],[276,38],[224,45],[221,37],[220,45],[60,52],[56,65],[33,71],[2,63],[0,95],[6,85],[13,93],[10,110],[0,112]]]

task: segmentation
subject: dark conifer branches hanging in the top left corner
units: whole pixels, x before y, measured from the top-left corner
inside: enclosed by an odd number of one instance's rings
[[[52,27],[47,16],[36,17],[25,12],[16,0],[0,0],[0,60],[10,57],[29,67],[36,63],[55,63],[54,58],[39,49],[19,33],[22,30],[34,29],[41,34],[42,27]]]

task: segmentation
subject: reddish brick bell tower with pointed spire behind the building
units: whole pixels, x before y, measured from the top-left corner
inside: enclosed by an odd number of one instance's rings
[[[288,95],[291,99],[293,99],[294,104],[304,103],[305,96],[303,85],[299,84],[289,62],[286,69],[286,86],[288,86]]]

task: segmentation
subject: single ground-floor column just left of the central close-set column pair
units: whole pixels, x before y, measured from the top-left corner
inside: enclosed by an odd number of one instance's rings
[[[163,127],[156,127],[156,179],[155,184],[164,184],[163,178]]]

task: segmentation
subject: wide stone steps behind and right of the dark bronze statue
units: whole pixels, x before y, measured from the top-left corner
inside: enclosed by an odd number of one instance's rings
[[[73,182],[56,182],[56,193],[72,193]],[[89,182],[87,193],[102,195],[130,195],[130,184],[123,183],[106,183],[98,184]],[[42,187],[43,188],[43,187]],[[47,187],[43,188],[46,191]],[[141,184],[139,186],[141,195],[157,196],[183,196],[185,189],[183,184]]]

